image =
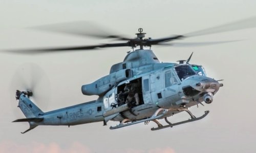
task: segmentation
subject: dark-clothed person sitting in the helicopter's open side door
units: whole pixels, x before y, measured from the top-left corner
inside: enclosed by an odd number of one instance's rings
[[[128,93],[125,103],[139,105],[139,94],[135,91],[136,84],[125,82],[124,91]]]

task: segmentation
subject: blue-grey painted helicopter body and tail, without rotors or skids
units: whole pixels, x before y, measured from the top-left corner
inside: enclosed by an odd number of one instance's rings
[[[152,50],[136,50],[127,54],[123,62],[113,65],[109,75],[82,86],[84,95],[98,95],[97,100],[44,113],[22,94],[19,107],[27,118],[43,118],[39,122],[32,122],[31,119],[30,129],[37,125],[77,125],[99,121],[104,121],[106,125],[109,120],[134,124],[134,121],[150,120],[153,116],[156,121],[156,118],[175,115],[205,101],[203,95],[208,94],[208,97],[213,98],[221,86],[218,81],[197,75],[196,72],[184,80],[179,79],[175,70],[179,66],[191,68],[188,63],[160,63]],[[166,80],[167,77],[170,78]],[[171,79],[173,82],[168,82],[166,86],[166,82]],[[118,90],[127,80],[140,81],[142,101],[138,106],[118,106]],[[193,91],[197,93],[191,95]],[[111,106],[113,103],[117,106],[115,109]],[[27,112],[30,115],[26,115]]]

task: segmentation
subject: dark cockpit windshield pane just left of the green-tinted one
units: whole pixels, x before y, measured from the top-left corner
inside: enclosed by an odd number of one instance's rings
[[[175,70],[181,81],[189,76],[197,75],[197,73],[189,65],[179,65],[175,67]]]

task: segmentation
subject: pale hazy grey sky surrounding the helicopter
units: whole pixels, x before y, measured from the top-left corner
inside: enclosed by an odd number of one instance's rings
[[[70,21],[92,21],[117,34],[135,37],[143,28],[147,37],[185,34],[256,15],[253,0],[216,1],[4,1],[0,0],[0,153],[3,152],[254,152],[256,113],[253,111],[256,76],[256,28],[187,38],[177,42],[229,41],[212,46],[153,46],[162,62],[187,59],[201,64],[209,77],[224,79],[214,101],[189,108],[204,119],[151,131],[150,122],[110,130],[117,122],[77,126],[38,126],[26,134],[28,123],[12,123],[24,118],[16,107],[17,69],[35,63],[45,73],[48,94],[35,102],[42,111],[51,111],[90,100],[80,88],[109,73],[113,64],[123,61],[130,48],[52,54],[13,54],[8,49],[59,47],[108,43],[106,39],[79,37],[28,27]],[[28,80],[29,81],[29,80]],[[47,82],[47,83],[46,83]],[[18,86],[18,84],[17,84]],[[45,89],[42,89],[42,91]],[[50,92],[49,92],[50,91]],[[186,120],[180,113],[171,122]],[[161,123],[164,123],[161,121]]]

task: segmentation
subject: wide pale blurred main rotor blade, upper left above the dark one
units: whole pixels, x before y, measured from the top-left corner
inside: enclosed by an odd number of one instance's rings
[[[89,21],[74,21],[69,23],[51,24],[31,28],[78,36],[91,36],[97,38],[118,38],[121,40],[130,40],[129,38],[125,38],[120,35],[115,35],[114,32],[112,32],[112,30],[104,30],[105,28],[102,28],[99,25]]]

